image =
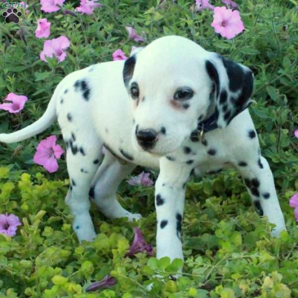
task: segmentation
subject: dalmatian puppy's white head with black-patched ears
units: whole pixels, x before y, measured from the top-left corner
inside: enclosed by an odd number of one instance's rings
[[[165,155],[214,114],[226,127],[250,101],[252,72],[179,36],[159,38],[126,60],[124,84],[135,149]]]

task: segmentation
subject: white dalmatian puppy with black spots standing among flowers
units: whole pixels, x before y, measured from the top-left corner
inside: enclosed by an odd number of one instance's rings
[[[252,90],[253,74],[245,66],[184,37],[161,37],[126,61],[67,75],[45,114],[20,131],[0,134],[0,142],[22,141],[58,119],[71,181],[66,203],[79,241],[96,235],[89,198],[108,218],[138,220],[139,214],[118,203],[117,188],[136,165],[159,168],[157,258],[183,259],[181,225],[191,173],[236,168],[259,215],[276,225],[272,235],[286,229],[247,109]]]

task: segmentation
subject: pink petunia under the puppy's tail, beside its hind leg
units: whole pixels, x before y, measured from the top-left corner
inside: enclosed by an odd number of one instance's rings
[[[50,136],[42,140],[36,149],[33,160],[42,165],[48,172],[54,173],[58,170],[58,162],[64,150],[56,145],[56,136]]]

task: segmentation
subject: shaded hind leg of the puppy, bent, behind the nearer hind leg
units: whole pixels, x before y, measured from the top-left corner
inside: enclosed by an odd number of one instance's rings
[[[127,217],[129,221],[139,220],[140,214],[132,214],[124,209],[116,198],[117,189],[136,165],[132,163],[120,164],[119,161],[106,150],[104,159],[93,179],[90,188],[90,198],[94,199],[99,210],[110,219]]]

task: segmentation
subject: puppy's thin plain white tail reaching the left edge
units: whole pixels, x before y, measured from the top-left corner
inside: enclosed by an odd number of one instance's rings
[[[36,122],[31,125],[11,134],[0,134],[0,142],[3,143],[15,143],[26,140],[30,137],[33,137],[52,125],[52,123],[56,120],[56,98],[57,91],[56,88],[49,105],[45,111],[45,113],[39,118]]]

